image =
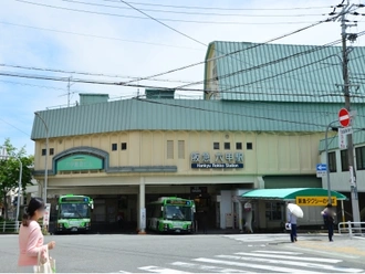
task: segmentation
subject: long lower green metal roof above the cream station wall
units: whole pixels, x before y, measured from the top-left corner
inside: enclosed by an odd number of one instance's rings
[[[49,137],[126,130],[324,131],[342,104],[202,99],[123,99],[39,112]],[[365,108],[356,125],[364,125]],[[358,123],[358,124],[357,124]],[[45,138],[34,116],[32,139]]]

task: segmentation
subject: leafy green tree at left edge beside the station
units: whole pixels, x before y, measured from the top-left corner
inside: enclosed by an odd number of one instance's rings
[[[22,191],[24,193],[27,189],[27,185],[32,183],[32,168],[34,162],[33,156],[27,156],[24,147],[17,149],[11,145],[9,138],[7,138],[0,149],[6,149],[8,152],[7,158],[0,159],[0,201],[4,205],[4,218],[8,219],[8,199],[7,196],[10,191],[14,191],[19,186],[19,172],[20,165],[19,160],[22,162],[22,189],[18,191]],[[20,202],[20,201],[18,201]]]

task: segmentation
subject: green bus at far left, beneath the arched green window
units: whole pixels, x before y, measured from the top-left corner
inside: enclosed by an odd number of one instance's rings
[[[87,232],[91,230],[93,199],[87,196],[61,196],[58,201],[56,232]]]

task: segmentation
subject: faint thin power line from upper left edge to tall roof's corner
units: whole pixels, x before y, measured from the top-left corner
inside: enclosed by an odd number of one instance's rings
[[[201,51],[200,49],[188,48],[188,46],[179,46],[179,45],[163,44],[163,43],[153,43],[153,42],[137,41],[137,40],[126,40],[126,39],[112,38],[112,36],[85,34],[85,33],[80,33],[80,32],[72,32],[72,31],[63,31],[63,30],[55,30],[55,29],[39,28],[39,27],[33,27],[33,25],[17,24],[17,23],[3,22],[3,21],[0,21],[0,23],[1,24],[13,25],[13,27],[19,27],[19,28],[34,29],[34,30],[41,30],[41,31],[51,31],[51,32],[58,32],[58,33],[63,33],[63,34],[72,34],[72,35],[77,35],[77,36],[86,36],[86,38],[95,38],[95,39],[103,39],[103,40],[121,41],[121,42],[128,42],[128,43],[138,43],[138,44],[148,44],[148,45],[168,46],[168,48],[176,48],[176,49]]]

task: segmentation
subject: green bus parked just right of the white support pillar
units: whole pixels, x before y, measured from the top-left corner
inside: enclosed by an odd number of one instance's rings
[[[147,229],[157,232],[192,233],[195,203],[177,197],[161,197],[147,205]]]

